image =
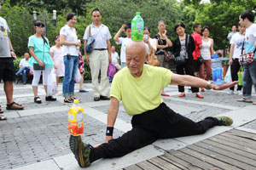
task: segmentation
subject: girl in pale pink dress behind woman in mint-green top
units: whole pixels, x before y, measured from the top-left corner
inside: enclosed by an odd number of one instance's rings
[[[64,61],[62,48],[60,43],[60,36],[55,37],[55,46],[49,49],[49,54],[55,63],[55,74],[56,74],[56,85],[58,87],[58,83],[60,81],[60,77],[64,77]],[[56,95],[60,93],[57,92]]]

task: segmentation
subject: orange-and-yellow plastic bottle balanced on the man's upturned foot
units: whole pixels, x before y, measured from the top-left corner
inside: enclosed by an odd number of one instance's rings
[[[76,104],[78,99],[73,100],[73,106],[68,111],[68,130],[73,136],[84,133],[84,109]]]

